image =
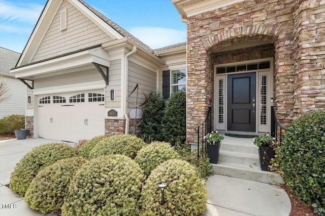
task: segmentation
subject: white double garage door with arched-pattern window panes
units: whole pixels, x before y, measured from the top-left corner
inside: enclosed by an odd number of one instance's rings
[[[78,142],[105,134],[103,90],[39,96],[39,137]]]

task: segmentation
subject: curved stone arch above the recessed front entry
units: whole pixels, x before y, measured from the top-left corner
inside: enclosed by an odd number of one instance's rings
[[[213,53],[222,47],[246,42],[266,41],[275,44],[281,29],[282,25],[279,24],[235,27],[209,36],[203,46],[208,53]]]

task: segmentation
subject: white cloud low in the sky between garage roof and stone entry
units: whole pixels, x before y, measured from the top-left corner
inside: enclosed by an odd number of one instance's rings
[[[186,31],[161,27],[134,27],[127,30],[152,49],[186,41]]]

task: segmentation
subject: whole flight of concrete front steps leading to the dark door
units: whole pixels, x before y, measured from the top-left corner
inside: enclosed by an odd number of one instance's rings
[[[272,185],[282,184],[276,172],[262,171],[258,149],[253,139],[224,137],[219,152],[219,163],[212,164],[213,173]]]

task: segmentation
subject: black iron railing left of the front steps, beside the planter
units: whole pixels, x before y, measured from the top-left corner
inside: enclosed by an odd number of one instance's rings
[[[207,149],[207,139],[205,136],[212,131],[212,113],[211,107],[208,108],[207,115],[199,126],[194,128],[194,131],[198,133],[198,158],[200,157],[200,143],[202,144],[202,150],[206,151]]]

